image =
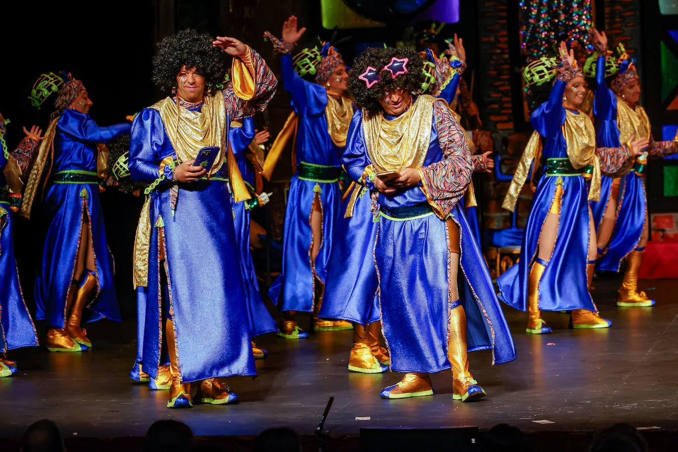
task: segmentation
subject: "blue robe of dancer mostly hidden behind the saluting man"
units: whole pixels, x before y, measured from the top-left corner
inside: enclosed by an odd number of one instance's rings
[[[256,131],[254,129],[254,117],[243,118],[242,127],[231,128],[229,140],[233,155],[238,163],[238,168],[243,176],[243,180],[250,187],[254,186],[254,167],[247,161],[245,151],[250,142],[254,139]],[[254,190],[252,190],[254,193]],[[240,264],[245,286],[245,301],[247,302],[247,318],[250,321],[250,333],[252,336],[258,336],[265,333],[278,331],[275,319],[268,312],[259,291],[259,283],[252,260],[252,251],[250,250],[250,218],[252,213],[245,207],[245,203],[236,203],[231,193],[231,204],[233,205],[233,215],[235,216],[235,238],[240,250]]]

